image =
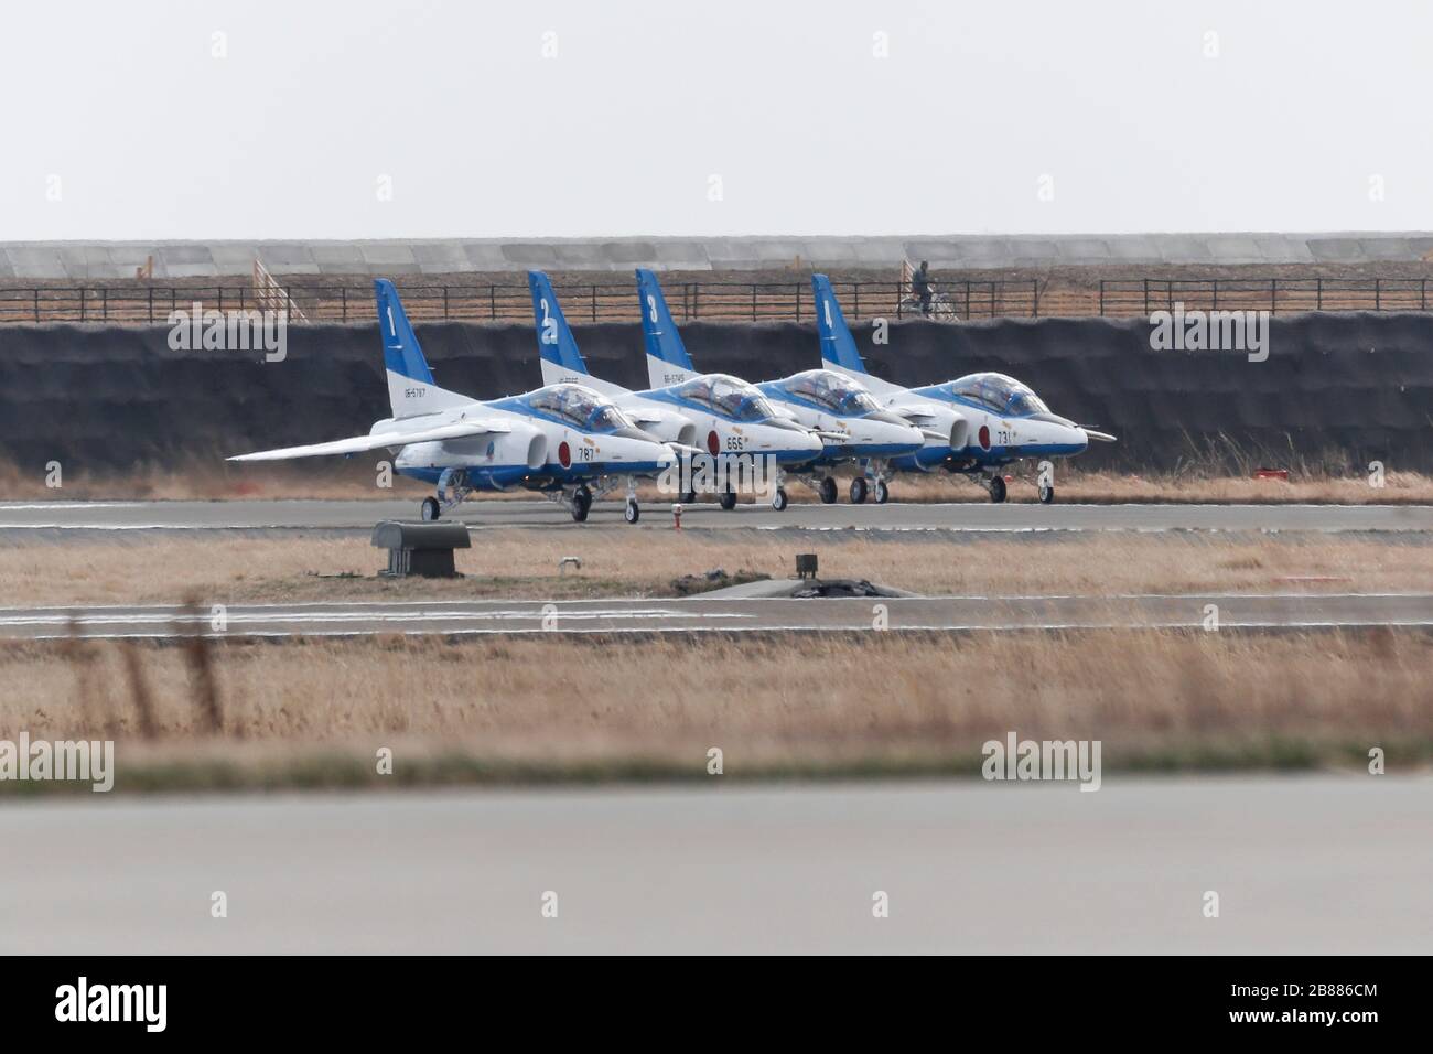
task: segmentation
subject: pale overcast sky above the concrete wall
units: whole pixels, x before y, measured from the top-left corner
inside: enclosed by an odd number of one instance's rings
[[[0,241],[1427,229],[1430,40],[1412,0],[27,0]]]

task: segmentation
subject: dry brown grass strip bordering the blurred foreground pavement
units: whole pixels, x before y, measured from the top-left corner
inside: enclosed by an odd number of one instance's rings
[[[225,736],[206,731],[183,651],[143,645],[149,744],[123,648],[82,647],[0,648],[0,739],[115,739],[120,786],[126,761],[262,766],[317,751],[371,766],[380,747],[400,769],[466,756],[694,776],[719,747],[739,776],[974,774],[962,766],[1010,730],[1099,739],[1112,767],[1351,760],[1371,746],[1406,766],[1433,744],[1433,642],[1391,631],[225,642],[214,655]]]

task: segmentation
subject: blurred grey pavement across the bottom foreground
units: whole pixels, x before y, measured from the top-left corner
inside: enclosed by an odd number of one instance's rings
[[[0,952],[1424,954],[1430,825],[1367,774],[85,794],[0,806]]]

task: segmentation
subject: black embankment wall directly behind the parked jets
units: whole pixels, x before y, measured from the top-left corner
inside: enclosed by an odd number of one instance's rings
[[[580,326],[593,370],[645,384],[636,326]],[[817,364],[811,326],[689,324],[698,364],[749,380]],[[493,397],[539,386],[529,326],[418,327],[444,387]],[[1119,435],[1085,462],[1169,466],[1191,440],[1234,442],[1287,463],[1333,453],[1361,472],[1433,472],[1433,317],[1321,314],[1275,318],[1271,354],[1152,351],[1142,320],[900,323],[871,346],[871,369],[919,384],[995,369],[1030,383],[1052,409]],[[181,463],[337,439],[388,413],[375,326],[292,327],[288,359],[172,351],[165,327],[6,327],[0,331],[0,457],[42,470]]]

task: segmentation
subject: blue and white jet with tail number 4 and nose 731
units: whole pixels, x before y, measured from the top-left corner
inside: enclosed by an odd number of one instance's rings
[[[920,455],[896,459],[894,470],[931,470],[943,467],[979,482],[990,500],[1005,500],[1002,469],[1027,457],[1070,457],[1082,453],[1089,440],[1112,443],[1115,437],[1091,427],[1082,427],[1066,417],[1050,413],[1027,386],[1003,373],[972,373],[944,384],[907,389],[873,377],[856,347],[856,337],[845,324],[841,305],[824,274],[811,275],[815,294],[817,330],[821,336],[823,364],[864,384],[886,409],[921,424],[923,429],[944,433],[949,440],[936,440]],[[927,419],[933,407],[944,407],[939,423]],[[949,426],[946,422],[950,422]],[[949,427],[949,430],[947,430]],[[1039,498],[1046,505],[1055,500],[1053,478],[1039,476]],[[851,500],[856,498],[854,488]]]

